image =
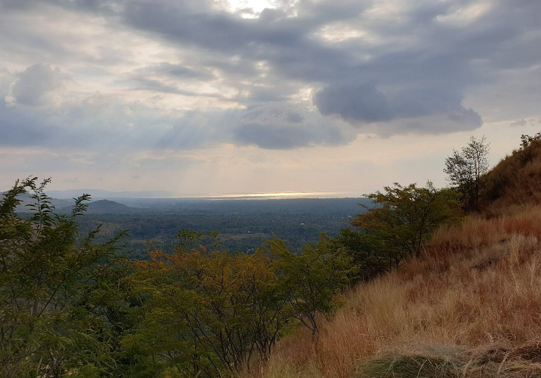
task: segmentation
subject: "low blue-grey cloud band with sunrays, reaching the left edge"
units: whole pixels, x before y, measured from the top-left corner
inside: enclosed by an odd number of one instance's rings
[[[61,74],[48,67],[44,72]],[[98,93],[65,100],[47,112],[29,106],[36,103],[37,100],[23,103],[17,100],[9,106],[0,103],[3,136],[0,145],[52,147],[57,151],[74,146],[81,151],[108,151],[111,146],[115,150],[160,151],[204,148],[226,142],[264,149],[292,149],[339,145],[355,137],[351,130],[326,122],[318,112],[279,103],[225,112],[190,111],[182,116],[157,112],[153,99],[127,103]]]

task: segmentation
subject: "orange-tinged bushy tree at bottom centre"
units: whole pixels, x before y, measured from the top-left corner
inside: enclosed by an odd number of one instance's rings
[[[183,376],[239,373],[253,355],[267,359],[287,323],[269,262],[202,246],[155,251],[136,263],[133,285],[149,299],[124,346],[160,356]]]

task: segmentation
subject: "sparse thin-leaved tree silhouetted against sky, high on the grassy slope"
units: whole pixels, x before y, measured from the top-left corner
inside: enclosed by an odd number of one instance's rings
[[[485,137],[476,139],[470,137],[470,143],[461,151],[453,149],[451,156],[445,159],[444,172],[448,180],[458,188],[463,196],[465,210],[478,210],[479,194],[483,189],[483,175],[489,170],[490,144]]]

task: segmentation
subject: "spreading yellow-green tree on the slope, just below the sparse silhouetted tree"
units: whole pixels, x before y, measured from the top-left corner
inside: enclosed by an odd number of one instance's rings
[[[384,187],[385,192],[368,194],[374,207],[357,214],[352,224],[381,243],[390,264],[398,265],[407,256],[419,256],[421,245],[440,225],[460,219],[458,195],[449,189],[437,190],[415,184]]]

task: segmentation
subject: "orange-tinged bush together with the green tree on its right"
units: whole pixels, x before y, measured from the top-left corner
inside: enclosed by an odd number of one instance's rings
[[[324,235],[300,255],[280,239],[252,255],[186,248],[203,235],[180,232],[188,240],[175,252],[154,251],[150,261],[134,263],[131,276],[146,300],[137,329],[122,345],[181,376],[239,374],[254,361],[266,361],[297,321],[315,336],[318,316],[337,306],[353,270],[344,249]]]

